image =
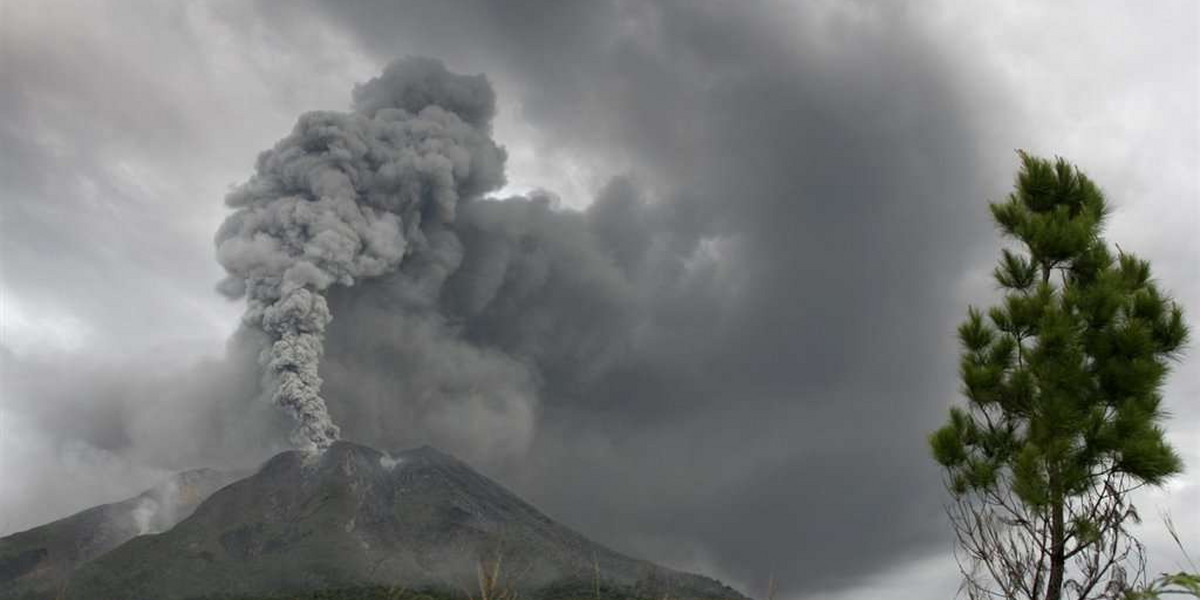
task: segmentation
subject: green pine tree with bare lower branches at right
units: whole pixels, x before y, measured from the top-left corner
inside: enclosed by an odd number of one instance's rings
[[[971,598],[1103,598],[1144,565],[1129,492],[1182,469],[1160,391],[1188,330],[1150,264],[1109,250],[1099,187],[1019,154],[990,205],[1003,301],[959,328],[967,406],[929,440]]]

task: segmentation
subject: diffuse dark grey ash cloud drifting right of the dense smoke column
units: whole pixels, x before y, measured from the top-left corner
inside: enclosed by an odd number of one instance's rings
[[[406,6],[298,16],[485,71],[539,160],[629,176],[584,210],[461,204],[436,294],[413,260],[331,288],[348,438],[432,443],[599,541],[744,584],[949,547],[924,437],[1016,145],[983,149],[953,53],[853,2]],[[529,442],[505,462],[497,439]]]

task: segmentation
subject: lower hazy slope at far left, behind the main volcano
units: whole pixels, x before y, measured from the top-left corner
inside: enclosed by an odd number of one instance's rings
[[[244,473],[179,473],[127,500],[0,539],[0,598],[53,596],[72,571],[134,536],[172,528]]]

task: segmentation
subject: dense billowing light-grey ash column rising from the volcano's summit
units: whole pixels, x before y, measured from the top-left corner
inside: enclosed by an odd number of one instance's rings
[[[218,288],[245,296],[246,325],[266,334],[264,384],[298,421],[298,446],[324,449],[340,434],[318,374],[332,318],[326,290],[410,259],[457,266],[461,247],[446,227],[458,204],[504,182],[493,114],[482,76],[400,60],[354,90],[352,113],[302,115],[226,198],[236,210],[216,236],[229,272]]]

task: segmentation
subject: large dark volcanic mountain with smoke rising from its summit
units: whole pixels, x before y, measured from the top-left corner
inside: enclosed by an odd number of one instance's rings
[[[481,570],[527,598],[744,598],[592,542],[436,449],[385,455],[347,442],[275,456],[169,530],[86,562],[61,598],[282,598],[368,586],[464,596],[479,593]],[[19,598],[2,589],[0,598]]]

